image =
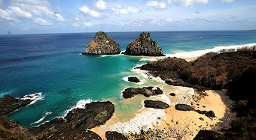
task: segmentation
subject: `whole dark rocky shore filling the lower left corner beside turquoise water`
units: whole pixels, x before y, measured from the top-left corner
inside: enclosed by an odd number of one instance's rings
[[[87,138],[101,139],[96,133],[84,131],[104,124],[114,113],[114,104],[107,102],[93,102],[86,104],[83,109],[72,109],[65,118],[54,118],[39,127],[24,128],[17,121],[10,121],[8,115],[16,109],[27,106],[32,100],[11,96],[0,98],[2,115],[0,115],[0,138],[23,139],[65,139]],[[7,108],[8,107],[8,108]],[[70,136],[71,135],[71,136]],[[51,138],[50,138],[51,137]]]

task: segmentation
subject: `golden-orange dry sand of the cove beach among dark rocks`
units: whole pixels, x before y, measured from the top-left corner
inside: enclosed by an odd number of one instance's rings
[[[218,91],[218,92],[222,92],[222,91]],[[144,97],[141,97],[141,96],[134,97],[124,102],[130,103],[131,100],[142,100],[143,98]],[[172,127],[172,128],[181,128],[182,130],[187,130],[187,133],[184,134],[185,135],[184,139],[194,139],[194,137],[197,135],[197,133],[200,130],[218,130],[218,127],[215,127],[215,126],[221,122],[220,120],[221,118],[224,118],[225,111],[227,109],[227,107],[221,100],[221,96],[212,90],[205,91],[205,95],[200,94],[196,91],[192,100],[192,104],[193,104],[192,107],[194,107],[194,109],[199,109],[201,111],[212,110],[213,112],[215,112],[216,117],[211,119],[206,117],[206,115],[201,115],[194,111],[187,111],[187,112],[178,111],[175,109],[175,106],[170,106],[168,109],[157,109],[159,110],[159,112],[164,112],[165,115],[163,115],[163,118],[161,118],[158,121],[158,123],[156,122],[156,124],[153,124],[153,125],[157,126],[157,124],[159,124],[157,128],[160,128],[162,130],[164,130],[164,128],[167,127],[166,124],[169,124],[169,127]],[[147,108],[144,108],[144,109],[147,109]],[[136,115],[141,115],[144,113],[145,118],[147,118],[147,115],[149,115],[147,114],[147,112],[148,110],[142,109],[141,111],[137,111]],[[154,110],[152,110],[151,113],[153,112]],[[136,121],[134,120],[132,118],[130,121],[121,121],[117,115],[114,115],[104,125],[95,127],[92,129],[92,131],[95,133],[98,133],[99,136],[101,136],[104,139],[105,132],[109,130],[113,131],[113,126],[116,126],[117,124],[124,125],[124,124],[136,123]],[[177,122],[178,124],[176,124]]]

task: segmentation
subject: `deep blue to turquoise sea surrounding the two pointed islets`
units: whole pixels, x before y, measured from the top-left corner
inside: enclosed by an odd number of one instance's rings
[[[107,32],[122,51],[141,32]],[[35,127],[65,115],[78,101],[123,100],[120,91],[135,87],[123,77],[144,57],[80,55],[95,33],[0,35],[0,97],[42,93],[42,99],[8,115],[24,127]],[[255,31],[151,31],[164,54],[216,46],[256,43]],[[140,61],[141,60],[141,61]],[[152,83],[145,83],[151,85]],[[118,109],[123,109],[116,103]],[[118,110],[117,109],[117,110]],[[36,123],[35,123],[36,122]]]

